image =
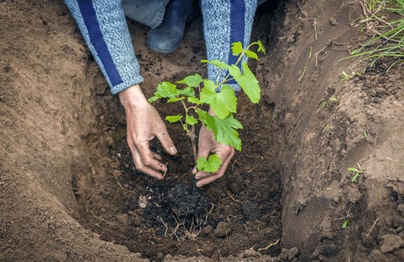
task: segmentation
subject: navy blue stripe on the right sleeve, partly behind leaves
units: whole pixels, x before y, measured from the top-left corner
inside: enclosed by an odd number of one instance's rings
[[[241,42],[244,47],[244,31],[245,31],[245,2],[244,0],[230,1],[230,44]],[[229,50],[228,64],[235,64],[237,56],[233,55],[231,48]],[[241,63],[238,65],[241,68]],[[227,84],[237,84],[234,79]]]

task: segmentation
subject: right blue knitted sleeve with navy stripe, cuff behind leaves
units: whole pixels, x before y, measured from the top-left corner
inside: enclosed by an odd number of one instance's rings
[[[238,57],[232,54],[231,44],[241,42],[243,48],[249,45],[256,9],[257,0],[201,0],[208,60],[236,63]],[[247,61],[247,57],[244,56],[242,61]],[[239,66],[241,69],[241,63]],[[223,80],[227,73],[208,64],[210,80],[215,81],[218,76],[219,80]],[[234,90],[240,90],[235,80],[227,83]]]

